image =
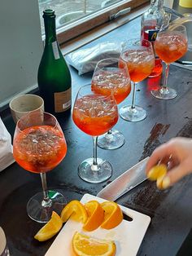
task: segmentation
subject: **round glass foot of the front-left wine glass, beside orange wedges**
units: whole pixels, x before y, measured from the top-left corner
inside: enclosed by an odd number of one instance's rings
[[[37,223],[47,223],[53,210],[61,214],[63,207],[67,204],[65,197],[59,192],[49,190],[48,196],[50,201],[43,201],[43,192],[38,192],[28,201],[28,216]]]

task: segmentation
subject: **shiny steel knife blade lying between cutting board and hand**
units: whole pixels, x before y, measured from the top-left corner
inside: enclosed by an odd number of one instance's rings
[[[123,174],[98,192],[97,196],[109,201],[116,201],[120,196],[123,196],[125,193],[145,181],[147,179],[145,168],[148,158],[149,157],[146,157],[129,170],[126,170]]]

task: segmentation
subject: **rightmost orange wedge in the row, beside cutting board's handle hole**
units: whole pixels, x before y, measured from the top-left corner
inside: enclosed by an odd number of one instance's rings
[[[105,201],[101,205],[104,210],[104,221],[101,224],[101,227],[111,229],[118,226],[123,220],[123,214],[120,210],[120,206],[114,201]]]

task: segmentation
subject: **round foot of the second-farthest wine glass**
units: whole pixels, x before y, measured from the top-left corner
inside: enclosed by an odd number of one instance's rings
[[[146,110],[139,106],[135,106],[135,108],[124,106],[120,108],[119,113],[120,117],[126,121],[142,121],[146,118]]]

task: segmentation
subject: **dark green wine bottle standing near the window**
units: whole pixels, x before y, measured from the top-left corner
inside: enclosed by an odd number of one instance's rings
[[[63,113],[71,108],[72,78],[57,42],[55,11],[43,11],[43,19],[46,43],[38,68],[38,87],[46,112]]]

